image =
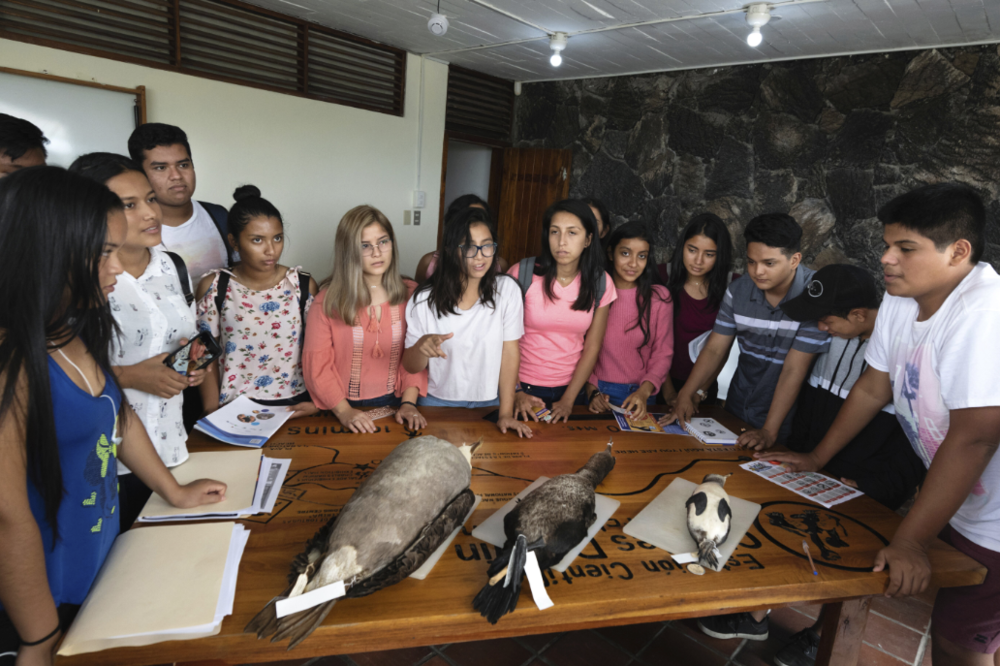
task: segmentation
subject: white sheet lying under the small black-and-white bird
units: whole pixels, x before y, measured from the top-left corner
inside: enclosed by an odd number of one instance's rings
[[[674,479],[622,531],[668,553],[683,555],[698,550],[698,544],[687,529],[687,508],[684,506],[697,486],[687,479]],[[729,561],[729,556],[760,513],[759,504],[732,495],[729,496],[729,507],[733,511],[729,538],[719,546],[722,558],[716,571],[721,571]]]

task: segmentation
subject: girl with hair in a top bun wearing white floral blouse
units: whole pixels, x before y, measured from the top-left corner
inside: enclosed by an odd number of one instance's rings
[[[302,340],[316,281],[301,267],[278,263],[284,224],[260,190],[244,185],[233,198],[229,242],[239,250],[240,262],[209,272],[198,285],[198,326],[224,350],[202,384],[205,411],[246,395],[262,404],[287,405],[295,412],[292,418],[314,414],[318,410],[302,380]]]

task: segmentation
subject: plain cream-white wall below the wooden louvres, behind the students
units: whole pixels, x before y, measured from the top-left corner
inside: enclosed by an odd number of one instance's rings
[[[317,279],[330,271],[337,223],[358,204],[375,206],[392,222],[403,273],[413,275],[420,257],[435,249],[437,225],[430,221],[438,219],[440,201],[447,65],[407,57],[402,118],[3,39],[0,66],[146,86],[147,120],[187,132],[195,197],[229,207],[237,186],[259,187],[285,219],[282,263],[301,264]],[[425,222],[403,226],[418,170]]]

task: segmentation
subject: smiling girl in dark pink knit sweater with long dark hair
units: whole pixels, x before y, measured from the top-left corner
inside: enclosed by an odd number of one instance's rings
[[[618,298],[611,304],[608,328],[597,364],[584,390],[590,411],[623,407],[646,416],[667,381],[674,355],[673,303],[653,267],[653,236],[646,225],[627,222],[607,240],[608,272]]]

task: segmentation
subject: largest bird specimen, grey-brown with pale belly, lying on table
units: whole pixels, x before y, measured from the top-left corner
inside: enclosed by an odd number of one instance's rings
[[[288,588],[244,633],[274,634],[272,643],[289,638],[291,650],[323,622],[336,600],[278,619],[279,599],[337,581],[344,581],[346,598],[363,597],[419,569],[472,508],[472,452],[481,443],[455,447],[437,437],[417,437],[393,449],[295,557]]]

